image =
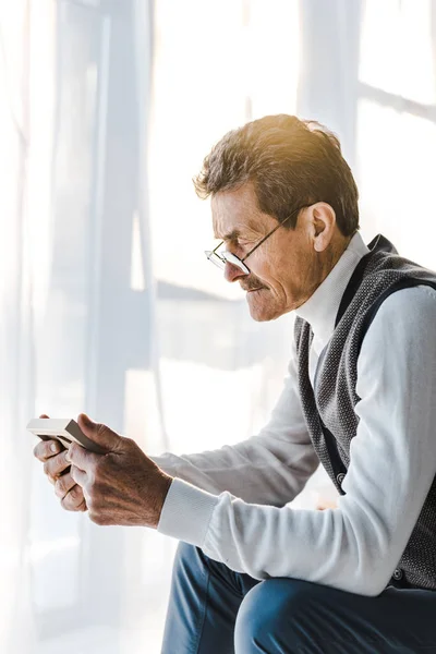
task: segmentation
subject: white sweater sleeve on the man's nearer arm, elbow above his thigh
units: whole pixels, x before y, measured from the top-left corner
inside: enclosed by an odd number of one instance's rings
[[[158,531],[255,579],[293,577],[378,595],[435,476],[436,293],[403,289],[379,308],[358,361],[360,423],[338,508],[295,510],[216,496],[175,479]]]

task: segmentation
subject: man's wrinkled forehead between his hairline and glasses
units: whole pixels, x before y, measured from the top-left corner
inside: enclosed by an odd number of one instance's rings
[[[216,239],[232,240],[263,233],[265,229],[265,214],[259,210],[254,191],[247,185],[237,191],[220,191],[211,197],[210,208]]]

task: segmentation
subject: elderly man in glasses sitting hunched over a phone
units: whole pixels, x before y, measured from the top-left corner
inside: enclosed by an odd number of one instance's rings
[[[195,184],[221,240],[207,256],[252,317],[295,313],[277,407],[235,446],[154,460],[81,414],[108,453],[40,443],[56,494],[181,541],[166,654],[436,652],[436,274],[363,242],[353,175],[318,123],[232,131]],[[337,507],[287,506],[319,461]]]

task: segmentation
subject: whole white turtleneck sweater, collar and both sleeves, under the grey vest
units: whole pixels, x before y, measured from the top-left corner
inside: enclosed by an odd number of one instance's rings
[[[350,277],[368,252],[360,233],[296,314],[314,331],[313,383]],[[174,476],[158,531],[255,579],[298,578],[377,595],[405,548],[436,473],[436,292],[419,286],[379,308],[358,361],[344,496],[335,509],[284,506],[318,464],[302,413],[296,352],[262,432],[234,446],[153,457]]]

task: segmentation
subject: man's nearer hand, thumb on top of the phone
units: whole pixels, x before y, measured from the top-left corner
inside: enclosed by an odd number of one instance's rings
[[[107,450],[90,452],[73,443],[68,452],[71,476],[83,488],[89,518],[96,524],[156,529],[172,482],[131,438],[81,413],[82,432]]]

